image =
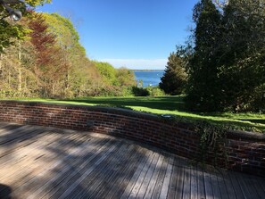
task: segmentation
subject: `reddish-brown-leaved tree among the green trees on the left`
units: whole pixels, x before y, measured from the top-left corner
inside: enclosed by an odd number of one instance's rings
[[[47,31],[48,25],[41,13],[34,13],[29,21],[30,41],[35,49],[35,74],[38,84],[43,87],[41,95],[52,96],[55,84],[63,78],[65,65],[62,50],[55,45],[56,37]]]

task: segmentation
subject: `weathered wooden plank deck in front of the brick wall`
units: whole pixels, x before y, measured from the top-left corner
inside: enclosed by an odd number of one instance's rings
[[[265,198],[265,178],[119,137],[0,123],[0,198]]]

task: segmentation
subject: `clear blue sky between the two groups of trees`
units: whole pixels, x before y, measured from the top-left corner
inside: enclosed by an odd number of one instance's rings
[[[197,0],[53,0],[37,11],[70,17],[91,60],[164,69],[183,44]]]

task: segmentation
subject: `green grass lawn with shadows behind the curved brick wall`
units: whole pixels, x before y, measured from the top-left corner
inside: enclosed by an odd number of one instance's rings
[[[187,112],[183,103],[183,96],[160,97],[88,97],[82,99],[54,100],[54,99],[20,99],[21,101],[35,101],[57,104],[101,105],[128,108],[139,112],[155,114],[171,114],[177,120],[191,121],[208,120],[226,129],[242,129],[265,133],[265,114],[232,113],[232,112]]]

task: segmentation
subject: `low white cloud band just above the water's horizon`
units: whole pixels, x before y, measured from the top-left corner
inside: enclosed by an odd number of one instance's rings
[[[102,59],[99,62],[109,62],[115,68],[126,67],[133,70],[164,70],[167,59]]]

